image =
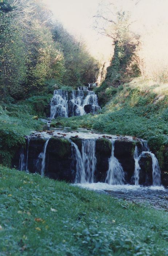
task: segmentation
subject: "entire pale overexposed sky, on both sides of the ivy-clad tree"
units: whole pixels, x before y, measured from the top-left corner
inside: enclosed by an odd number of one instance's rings
[[[168,0],[43,0],[57,20],[77,38],[83,38],[89,52],[108,61],[112,41],[95,29],[95,16],[101,12],[110,17],[117,10],[131,12],[132,29],[149,39],[158,38],[167,44]],[[108,8],[106,7],[107,4]]]

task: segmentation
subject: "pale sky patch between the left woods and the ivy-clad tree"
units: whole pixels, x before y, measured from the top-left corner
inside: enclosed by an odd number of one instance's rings
[[[55,18],[77,38],[83,38],[89,52],[99,60],[110,59],[112,41],[94,28],[101,0],[44,0]]]

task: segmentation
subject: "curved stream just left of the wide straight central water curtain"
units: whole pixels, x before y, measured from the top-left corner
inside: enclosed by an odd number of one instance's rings
[[[86,182],[85,171],[84,171],[84,166],[83,166],[79,148],[72,141],[71,141],[71,144],[72,144],[73,167],[75,167],[76,169],[75,183],[85,183]]]

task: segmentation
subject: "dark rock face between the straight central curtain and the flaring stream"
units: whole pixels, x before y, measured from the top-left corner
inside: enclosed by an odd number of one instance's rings
[[[95,180],[96,182],[104,182],[107,176],[108,161],[111,157],[111,141],[107,139],[96,140],[96,171]]]

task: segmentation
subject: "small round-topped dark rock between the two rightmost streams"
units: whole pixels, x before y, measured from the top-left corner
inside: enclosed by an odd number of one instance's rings
[[[141,155],[139,160],[139,184],[150,186],[152,185],[152,158],[148,153]]]

